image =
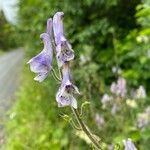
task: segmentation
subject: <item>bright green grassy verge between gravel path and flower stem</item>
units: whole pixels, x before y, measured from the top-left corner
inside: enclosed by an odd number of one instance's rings
[[[52,78],[49,77],[49,82],[40,85],[33,81],[29,71],[25,69],[23,73],[23,85],[17,93],[17,101],[7,123],[6,149],[73,149],[80,140],[72,137],[74,133],[71,126],[60,116],[64,112],[56,106],[56,85],[51,82]]]

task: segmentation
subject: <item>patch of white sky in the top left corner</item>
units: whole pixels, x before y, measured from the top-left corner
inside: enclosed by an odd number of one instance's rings
[[[18,0],[0,0],[0,10],[4,12],[6,19],[15,24],[17,21],[17,4]]]

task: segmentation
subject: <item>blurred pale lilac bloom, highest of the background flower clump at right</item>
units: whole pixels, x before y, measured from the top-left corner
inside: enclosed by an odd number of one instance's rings
[[[117,96],[125,97],[127,89],[126,89],[126,80],[124,78],[119,78],[117,83],[113,82],[110,87],[110,91],[112,94]]]

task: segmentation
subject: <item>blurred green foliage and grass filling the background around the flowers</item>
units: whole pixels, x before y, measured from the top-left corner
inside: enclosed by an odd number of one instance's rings
[[[43,44],[39,35],[46,21],[63,11],[66,37],[75,51],[72,74],[82,95],[78,103],[90,101],[84,119],[93,132],[108,144],[132,138],[140,150],[150,149],[150,126],[139,129],[137,114],[150,105],[150,2],[149,0],[20,0],[17,23],[8,23],[0,13],[0,49],[24,47],[24,64],[38,54]],[[116,71],[115,71],[116,70]],[[112,116],[102,109],[101,98],[110,93],[118,76],[127,80],[128,94],[143,85],[147,98],[131,109],[125,104],[121,113]],[[24,65],[21,86],[6,123],[6,150],[87,150],[90,146],[60,117],[70,108],[58,108],[55,93],[58,85],[49,75],[39,84]],[[129,96],[127,96],[129,97]],[[95,114],[103,115],[99,126]],[[92,120],[92,121],[91,121]]]

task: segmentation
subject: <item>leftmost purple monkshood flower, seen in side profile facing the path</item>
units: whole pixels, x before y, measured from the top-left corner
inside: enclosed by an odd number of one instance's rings
[[[43,50],[35,57],[28,61],[30,64],[30,69],[32,72],[37,73],[37,76],[34,80],[42,82],[50,72],[52,66],[52,56],[53,50],[50,40],[50,31],[52,30],[52,20],[48,19],[47,25],[49,29],[47,29],[47,33],[42,33],[40,38],[43,40],[44,48]]]

